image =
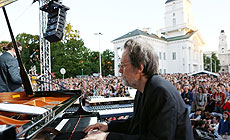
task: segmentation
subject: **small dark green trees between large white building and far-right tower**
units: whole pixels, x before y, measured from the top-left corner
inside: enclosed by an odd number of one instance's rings
[[[203,60],[204,60],[204,70],[211,71],[211,66],[212,66],[212,72],[215,72],[215,66],[216,66],[216,72],[220,70],[220,60],[217,58],[216,53],[212,52],[211,58],[204,54]]]

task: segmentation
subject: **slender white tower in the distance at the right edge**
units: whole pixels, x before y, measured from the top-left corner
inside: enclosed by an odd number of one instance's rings
[[[219,72],[230,73],[230,50],[228,50],[227,36],[224,30],[220,32],[217,56],[221,67]]]

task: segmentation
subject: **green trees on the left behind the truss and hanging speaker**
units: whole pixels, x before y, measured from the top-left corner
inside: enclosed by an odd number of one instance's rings
[[[74,30],[72,25],[67,24],[65,29],[64,40],[51,43],[51,72],[55,73],[56,78],[62,78],[61,68],[66,69],[65,78],[98,73],[99,52],[91,51],[85,47],[79,36],[79,31]],[[22,44],[21,57],[27,71],[29,72],[35,65],[37,73],[40,74],[39,36],[21,33],[17,35],[16,40]],[[36,57],[31,59],[30,55],[35,51],[37,51]],[[106,50],[101,54],[101,58],[103,76],[114,75],[114,53]]]

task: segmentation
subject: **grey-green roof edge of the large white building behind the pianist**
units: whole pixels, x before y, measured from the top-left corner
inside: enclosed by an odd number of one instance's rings
[[[170,37],[170,38],[165,38],[165,37],[159,37],[155,34],[149,34],[147,32],[141,31],[139,29],[133,30],[132,32],[129,32],[121,37],[118,37],[116,39],[114,39],[113,41],[117,41],[117,40],[121,40],[121,39],[125,39],[125,38],[129,38],[129,37],[133,37],[133,36],[138,36],[138,35],[143,35],[143,36],[147,36],[150,38],[155,38],[155,39],[159,39],[159,40],[163,40],[163,41],[176,41],[176,40],[181,40],[181,39],[188,39],[190,38],[193,34],[195,33],[195,31],[189,31],[188,33],[186,33],[185,35],[181,35],[181,36],[175,36],[175,37]]]

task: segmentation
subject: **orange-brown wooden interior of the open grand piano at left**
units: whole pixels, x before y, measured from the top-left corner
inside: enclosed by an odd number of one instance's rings
[[[66,92],[73,94],[65,94]],[[79,91],[66,92],[35,92],[34,96],[27,96],[25,92],[4,92],[0,93],[0,103],[22,104],[52,109],[72,97],[75,93],[80,94]],[[20,110],[20,108],[18,108],[18,110]],[[0,110],[0,125],[6,124],[20,127],[29,122],[32,117],[34,117],[34,115]]]

